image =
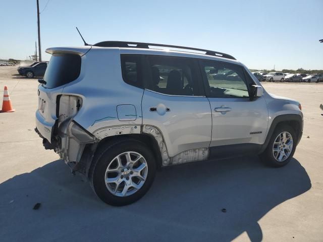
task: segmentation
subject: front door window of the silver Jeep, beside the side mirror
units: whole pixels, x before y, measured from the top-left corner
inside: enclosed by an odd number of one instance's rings
[[[202,62],[209,97],[249,97],[243,68],[223,62]]]

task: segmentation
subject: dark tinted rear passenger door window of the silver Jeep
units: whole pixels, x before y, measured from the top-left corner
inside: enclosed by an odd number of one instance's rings
[[[170,95],[198,95],[198,71],[194,61],[170,56],[148,56],[150,89]]]

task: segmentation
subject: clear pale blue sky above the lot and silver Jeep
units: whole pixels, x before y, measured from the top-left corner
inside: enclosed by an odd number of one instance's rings
[[[37,40],[36,0],[4,0],[0,58],[25,59]],[[47,0],[39,0],[40,10]],[[129,40],[226,52],[250,69],[323,69],[323,0],[49,0],[41,45]]]

